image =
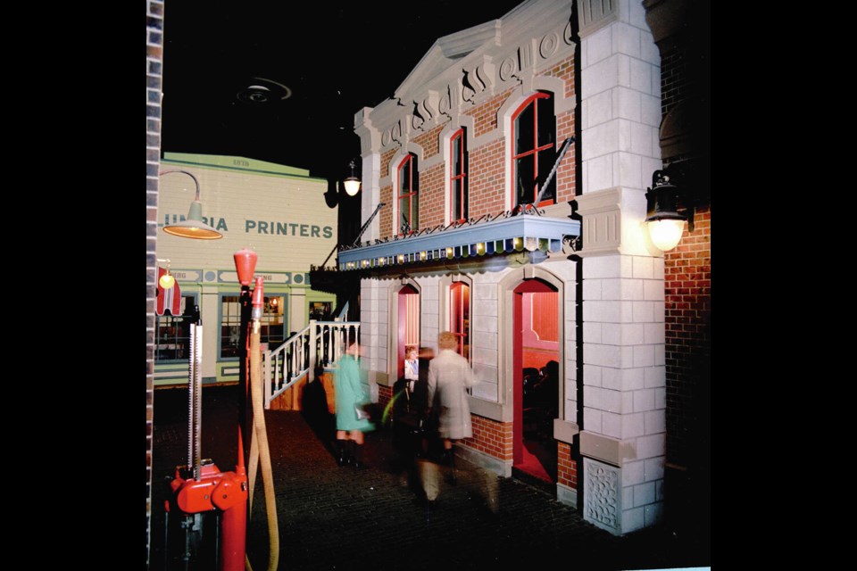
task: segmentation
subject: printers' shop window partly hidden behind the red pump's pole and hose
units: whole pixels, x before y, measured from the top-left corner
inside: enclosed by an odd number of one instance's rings
[[[286,341],[287,311],[285,296],[265,296],[260,319],[260,343],[276,349]],[[220,296],[220,358],[237,357],[241,341],[241,302],[237,295]]]

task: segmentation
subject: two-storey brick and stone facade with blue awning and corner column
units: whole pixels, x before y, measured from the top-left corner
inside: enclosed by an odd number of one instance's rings
[[[664,512],[665,262],[644,223],[646,186],[664,166],[660,66],[645,6],[633,0],[529,1],[439,38],[394,97],[355,116],[362,218],[384,206],[368,241],[338,261],[361,272],[363,362],[382,394],[405,343],[436,348],[445,329],[461,336],[480,383],[474,435],[458,452],[500,475],[532,465],[522,364],[558,361],[555,471],[545,472],[560,501],[615,534]],[[465,224],[452,194],[461,132]],[[543,136],[554,153],[531,167]],[[537,198],[572,137],[548,200]],[[535,326],[521,316],[544,320],[540,307],[557,314],[547,353],[523,343]],[[418,339],[405,333],[414,327]]]

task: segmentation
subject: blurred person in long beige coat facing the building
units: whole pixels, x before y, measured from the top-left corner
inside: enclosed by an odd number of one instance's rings
[[[470,405],[465,389],[476,385],[473,369],[455,352],[458,339],[444,331],[437,336],[437,357],[428,363],[428,402],[437,414],[437,433],[444,442],[444,457],[450,467],[450,478],[455,482],[453,443],[473,436],[470,424]]]

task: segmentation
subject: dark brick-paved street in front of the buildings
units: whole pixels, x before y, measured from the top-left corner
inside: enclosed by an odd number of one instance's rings
[[[220,470],[235,468],[237,387],[204,389],[203,456]],[[577,510],[512,478],[464,461],[458,484],[437,465],[417,464],[395,451],[387,431],[367,434],[368,468],[337,467],[330,425],[306,412],[265,414],[279,522],[279,568],[478,569],[551,565],[576,569],[710,566],[704,546],[666,529],[625,537],[590,525]],[[312,422],[312,426],[311,426]],[[315,430],[313,430],[313,426]],[[164,564],[166,482],[187,455],[187,390],[155,391],[151,569]],[[423,478],[437,476],[437,505],[427,509]],[[247,554],[254,569],[268,561],[268,526],[261,472],[254,492]],[[174,542],[171,537],[171,543]],[[172,545],[171,545],[172,546]],[[170,559],[170,558],[168,558]],[[174,560],[166,567],[182,568]],[[191,567],[194,568],[194,567]]]

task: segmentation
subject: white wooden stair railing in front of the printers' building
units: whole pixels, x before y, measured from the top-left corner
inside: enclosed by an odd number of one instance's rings
[[[262,378],[266,380],[265,408],[290,386],[307,379],[312,383],[318,368],[336,367],[349,335],[360,333],[359,321],[316,321],[295,333],[277,349],[262,352]]]

